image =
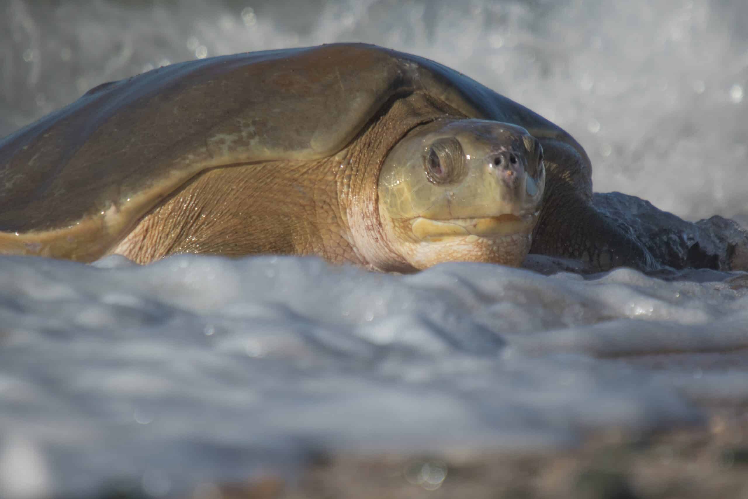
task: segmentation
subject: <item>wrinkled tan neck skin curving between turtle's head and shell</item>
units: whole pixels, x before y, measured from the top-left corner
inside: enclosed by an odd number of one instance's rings
[[[340,200],[348,218],[353,249],[368,270],[410,273],[418,269],[396,251],[384,232],[378,208],[379,172],[387,153],[409,131],[436,118],[452,115],[455,109],[415,93],[394,101],[372,129],[364,133],[346,153],[347,166],[341,183]]]

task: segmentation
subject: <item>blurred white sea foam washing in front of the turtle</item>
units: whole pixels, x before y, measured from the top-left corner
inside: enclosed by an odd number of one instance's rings
[[[744,348],[748,292],[723,283],[274,256],[99,267],[0,258],[0,426],[48,458],[55,491],[283,474],[319,447],[552,446],[693,423],[691,397],[748,386],[747,369],[698,364],[694,384],[683,363],[606,358]]]

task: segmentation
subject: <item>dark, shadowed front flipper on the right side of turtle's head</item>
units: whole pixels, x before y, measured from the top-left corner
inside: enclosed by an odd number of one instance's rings
[[[595,270],[660,267],[631,226],[593,205],[586,155],[557,139],[540,140],[546,190],[530,253],[576,258]]]

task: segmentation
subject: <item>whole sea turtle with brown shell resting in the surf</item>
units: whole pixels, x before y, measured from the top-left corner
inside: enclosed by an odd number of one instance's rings
[[[0,142],[0,252],[320,255],[408,272],[533,252],[652,267],[568,133],[416,55],[340,43],[105,83]]]

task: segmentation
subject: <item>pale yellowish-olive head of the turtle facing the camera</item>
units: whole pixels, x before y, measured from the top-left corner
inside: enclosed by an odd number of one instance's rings
[[[524,128],[437,120],[387,154],[379,219],[390,247],[417,269],[443,261],[519,265],[544,188],[542,147]]]

